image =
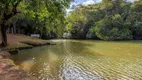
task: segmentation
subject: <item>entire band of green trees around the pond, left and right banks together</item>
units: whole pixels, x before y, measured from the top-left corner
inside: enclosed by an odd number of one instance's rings
[[[71,1],[1,0],[2,46],[7,46],[7,32],[40,34],[43,39],[142,39],[142,0],[102,0],[80,5],[66,16]]]

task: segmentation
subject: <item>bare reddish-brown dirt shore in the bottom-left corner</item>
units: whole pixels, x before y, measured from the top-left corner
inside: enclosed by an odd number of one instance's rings
[[[0,80],[33,80],[32,77],[15,65],[10,58],[10,53],[0,52]]]

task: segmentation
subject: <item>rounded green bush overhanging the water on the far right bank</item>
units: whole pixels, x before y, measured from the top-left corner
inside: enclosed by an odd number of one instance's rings
[[[103,40],[132,39],[132,33],[125,29],[120,15],[106,16],[94,25],[96,36]]]

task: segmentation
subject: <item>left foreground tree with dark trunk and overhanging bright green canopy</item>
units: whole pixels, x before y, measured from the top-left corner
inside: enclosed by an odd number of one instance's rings
[[[2,46],[7,46],[7,22],[17,13],[20,13],[18,12],[17,7],[21,2],[24,2],[24,5],[22,6],[24,7],[24,14],[30,14],[31,17],[29,18],[29,16],[25,16],[25,18],[28,17],[28,20],[36,22],[37,25],[34,29],[38,29],[38,31],[41,32],[44,28],[43,26],[45,26],[47,18],[49,16],[54,16],[55,18],[55,15],[58,15],[58,13],[63,13],[70,0],[0,0]],[[52,20],[54,18],[52,18]]]

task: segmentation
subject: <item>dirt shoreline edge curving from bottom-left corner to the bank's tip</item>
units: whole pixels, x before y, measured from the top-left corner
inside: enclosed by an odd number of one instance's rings
[[[26,43],[25,43],[26,44]],[[28,44],[28,43],[27,43]],[[30,76],[28,72],[21,69],[14,63],[9,57],[11,54],[18,54],[18,50],[31,49],[38,46],[52,45],[49,42],[42,44],[28,44],[29,46],[23,46],[13,49],[5,49],[0,51],[0,80],[37,80],[33,76]]]

